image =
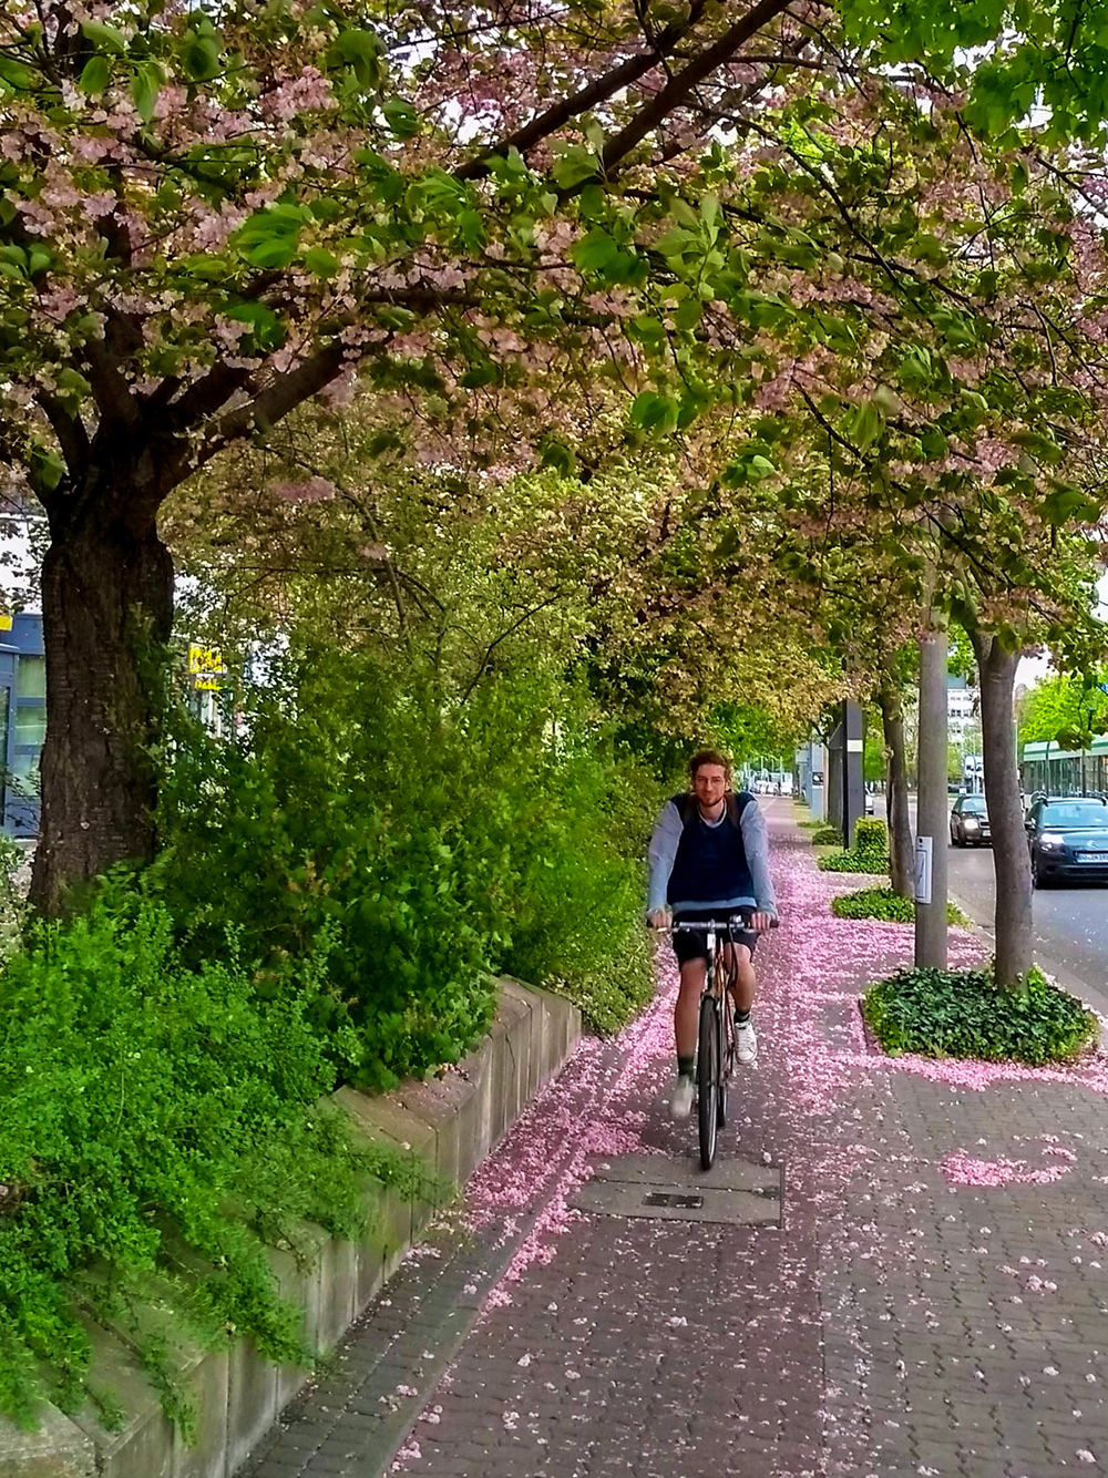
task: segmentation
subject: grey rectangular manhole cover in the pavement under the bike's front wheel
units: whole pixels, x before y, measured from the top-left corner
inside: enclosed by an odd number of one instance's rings
[[[782,1216],[782,1169],[721,1157],[703,1172],[691,1159],[620,1154],[594,1160],[592,1179],[578,1187],[569,1205],[606,1216],[774,1227]]]

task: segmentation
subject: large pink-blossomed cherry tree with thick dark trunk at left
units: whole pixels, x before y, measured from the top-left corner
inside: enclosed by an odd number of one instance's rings
[[[910,201],[900,236],[864,229],[880,127],[869,160],[852,145],[854,183],[832,177],[826,140],[872,130],[879,99],[900,99],[894,132],[926,130],[959,87],[982,130],[1015,142],[1042,92],[1059,139],[1093,140],[1101,9],[6,6],[0,457],[50,529],[37,905],[59,909],[69,882],[154,845],[171,489],[356,372],[467,435],[505,392],[530,392],[526,457],[557,466],[578,432],[560,380],[610,378],[634,423],[665,435],[755,380],[767,405],[787,384],[833,421],[814,393],[823,352],[839,362],[829,393],[849,398],[863,364],[880,374],[882,334],[909,341],[891,322],[906,304],[972,359],[971,313],[934,285],[948,262]],[[990,41],[965,74],[960,49]],[[807,118],[779,106],[804,99]],[[916,188],[941,214],[941,168]],[[804,225],[817,198],[849,253]],[[858,315],[872,331],[855,334]],[[1040,338],[1056,352],[1053,334]],[[901,384],[965,390],[944,448],[1010,418],[985,396],[974,421],[979,392],[948,361],[910,362]],[[852,409],[876,455],[898,411],[873,389]]]

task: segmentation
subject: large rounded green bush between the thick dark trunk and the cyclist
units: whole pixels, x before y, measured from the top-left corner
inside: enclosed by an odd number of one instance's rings
[[[412,667],[306,649],[250,695],[236,739],[183,730],[158,885],[188,956],[230,919],[259,989],[281,990],[326,927],[312,1023],[369,1088],[456,1060],[495,970],[579,996],[609,965],[622,980],[657,797],[554,687],[504,675],[448,704]]]

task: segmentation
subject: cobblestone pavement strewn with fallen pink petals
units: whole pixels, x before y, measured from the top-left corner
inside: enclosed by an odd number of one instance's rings
[[[767,810],[783,927],[719,1157],[782,1168],[780,1225],[572,1206],[625,1154],[696,1188],[662,962],[652,1008],[582,1042],[250,1478],[1108,1474],[1108,1063],[870,1052],[858,990],[912,930],[832,918],[866,879],[818,873],[792,804]],[[951,964],[981,949],[951,931]]]

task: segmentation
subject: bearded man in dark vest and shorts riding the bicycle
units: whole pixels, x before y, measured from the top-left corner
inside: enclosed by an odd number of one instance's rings
[[[749,1066],[758,1055],[750,1023],[756,987],[753,949],[758,934],[777,918],[765,816],[749,791],[731,795],[731,766],[718,751],[694,754],[688,776],[691,794],[675,795],[662,807],[650,838],[647,922],[652,928],[669,928],[671,922],[752,913],[750,927],[737,922],[731,930],[734,943],[727,946],[736,973],[736,1057]],[[681,989],[674,1008],[677,1083],[669,1114],[687,1119],[693,1110],[697,1015],[708,968],[706,934],[674,934],[674,953],[681,967]]]

